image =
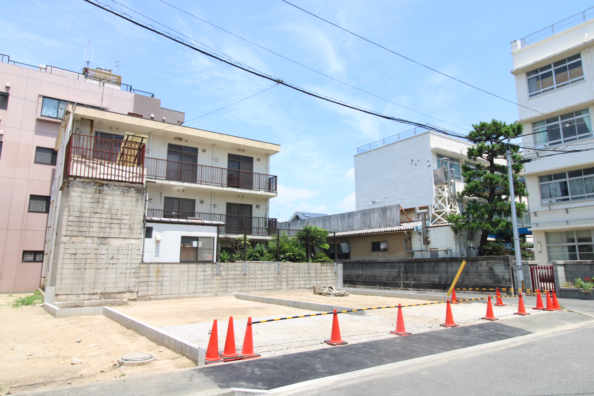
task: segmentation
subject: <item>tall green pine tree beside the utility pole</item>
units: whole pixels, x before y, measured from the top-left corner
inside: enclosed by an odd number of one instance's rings
[[[452,214],[447,220],[454,232],[467,230],[482,232],[479,243],[479,256],[485,255],[485,245],[488,236],[500,235],[511,230],[511,205],[509,201],[509,182],[506,163],[508,140],[522,135],[523,126],[493,119],[491,122],[481,122],[472,125],[467,139],[474,144],[467,150],[469,160],[482,159],[488,164],[476,163],[474,167],[462,165],[462,176],[465,188],[458,193],[459,197],[469,198],[463,214]],[[526,188],[517,181],[522,172],[523,164],[518,163],[522,156],[518,154],[519,147],[510,145],[511,162],[514,178],[514,192],[516,197],[526,197]],[[501,161],[504,160],[504,161]],[[517,213],[522,214],[525,204],[516,202]]]

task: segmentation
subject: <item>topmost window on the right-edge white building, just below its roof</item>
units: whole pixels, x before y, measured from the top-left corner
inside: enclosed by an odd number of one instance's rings
[[[582,54],[578,53],[553,64],[527,72],[526,78],[528,79],[528,97],[534,97],[584,81]]]

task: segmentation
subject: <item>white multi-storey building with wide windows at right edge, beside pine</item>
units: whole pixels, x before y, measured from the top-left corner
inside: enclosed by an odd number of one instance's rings
[[[592,9],[511,43],[536,260],[593,260]],[[567,26],[571,26],[567,28]],[[564,28],[565,30],[560,30]],[[557,154],[552,155],[551,154]]]

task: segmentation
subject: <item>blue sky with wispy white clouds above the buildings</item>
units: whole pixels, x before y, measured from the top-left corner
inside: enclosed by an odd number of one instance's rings
[[[123,4],[275,78],[345,102],[457,132],[492,118],[513,122],[517,106],[422,68],[280,0],[168,0],[197,17],[412,112],[296,65],[159,0]],[[207,58],[82,0],[1,2],[0,53],[27,64],[80,70],[91,40],[96,67],[149,91],[162,106],[206,114],[257,93],[267,80]],[[294,4],[418,62],[516,100],[510,42],[592,6],[572,1],[313,1]],[[130,14],[138,18],[140,15]],[[448,123],[457,125],[453,126]],[[277,86],[188,126],[280,144],[271,157],[279,197],[270,214],[355,209],[353,155],[369,142],[410,126],[326,103]],[[278,212],[277,212],[278,211]]]

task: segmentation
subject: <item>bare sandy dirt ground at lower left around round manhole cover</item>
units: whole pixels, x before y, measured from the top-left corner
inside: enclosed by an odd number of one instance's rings
[[[58,319],[42,306],[8,305],[29,294],[0,294],[0,384],[8,385],[11,394],[195,366],[103,315]],[[120,356],[137,352],[157,359],[146,366],[114,368]],[[72,358],[83,363],[71,365]]]

